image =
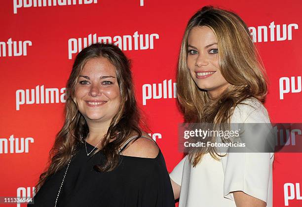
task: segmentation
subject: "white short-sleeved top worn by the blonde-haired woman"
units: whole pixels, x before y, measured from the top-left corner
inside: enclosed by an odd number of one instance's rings
[[[263,104],[257,99],[239,104],[231,123],[270,123]],[[236,207],[231,192],[244,193],[272,207],[273,153],[228,153],[220,161],[209,154],[192,167],[186,156],[170,173],[181,185],[179,207]]]

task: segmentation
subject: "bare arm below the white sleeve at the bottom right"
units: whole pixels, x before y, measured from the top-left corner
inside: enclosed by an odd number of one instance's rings
[[[236,207],[266,207],[266,203],[242,191],[232,192]]]

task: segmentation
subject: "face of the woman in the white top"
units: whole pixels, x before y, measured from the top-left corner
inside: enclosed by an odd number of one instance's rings
[[[209,27],[193,27],[188,37],[187,64],[193,81],[200,89],[217,97],[229,85],[219,70],[218,44]]]

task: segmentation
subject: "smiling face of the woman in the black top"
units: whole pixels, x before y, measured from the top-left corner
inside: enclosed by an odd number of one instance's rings
[[[111,122],[120,105],[120,91],[115,67],[107,58],[87,61],[76,83],[75,98],[87,122]]]

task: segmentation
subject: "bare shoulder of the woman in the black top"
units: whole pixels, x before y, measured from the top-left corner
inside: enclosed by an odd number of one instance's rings
[[[127,148],[123,150],[122,155],[140,158],[156,158],[159,149],[152,138],[143,133],[143,136],[131,141]]]

